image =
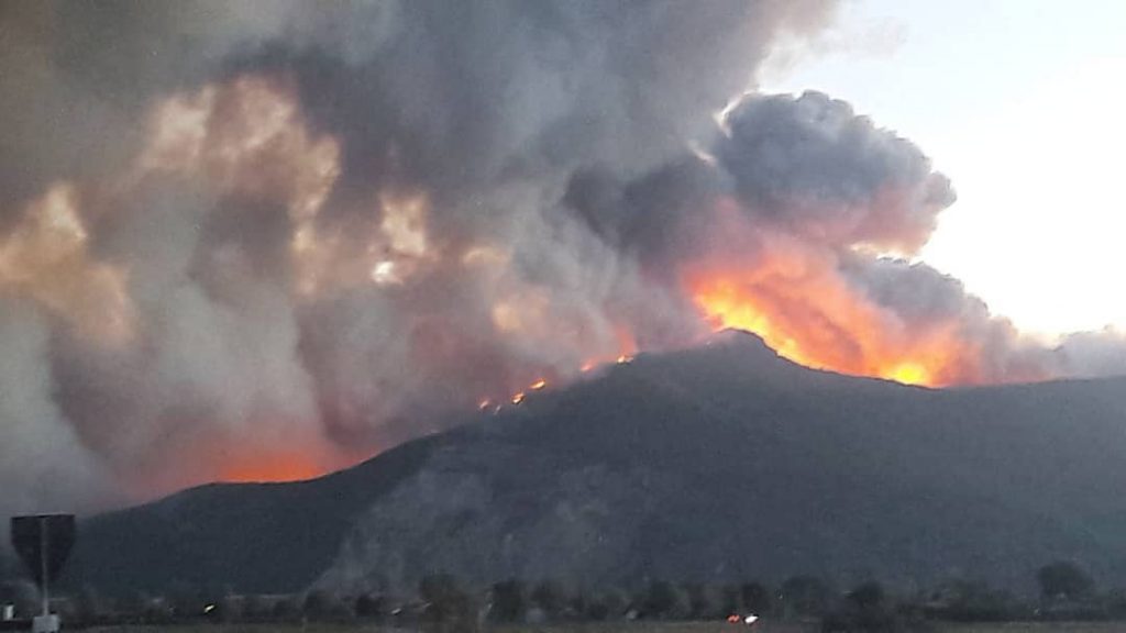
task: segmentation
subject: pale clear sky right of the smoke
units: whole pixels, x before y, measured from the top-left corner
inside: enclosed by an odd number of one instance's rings
[[[816,89],[954,181],[921,259],[1039,333],[1126,328],[1126,0],[854,0],[767,91]]]

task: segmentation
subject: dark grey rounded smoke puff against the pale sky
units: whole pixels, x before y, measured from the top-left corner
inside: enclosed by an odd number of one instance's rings
[[[743,100],[715,152],[744,208],[825,246],[914,252],[954,191],[910,141],[820,92]]]

